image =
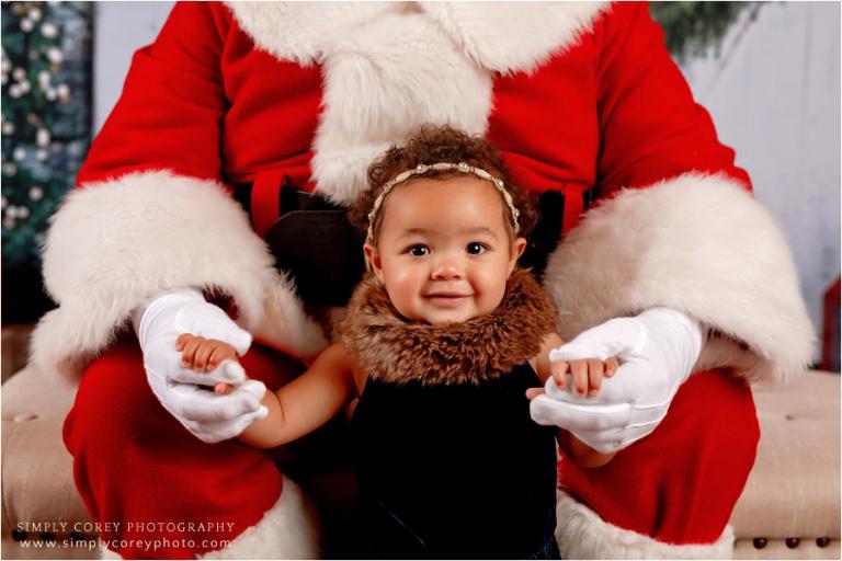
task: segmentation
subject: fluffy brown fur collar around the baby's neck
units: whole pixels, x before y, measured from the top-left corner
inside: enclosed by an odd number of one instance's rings
[[[556,308],[532,273],[515,270],[491,313],[431,325],[398,314],[386,289],[368,275],[354,290],[342,341],[372,378],[423,383],[479,383],[538,354],[555,331]]]

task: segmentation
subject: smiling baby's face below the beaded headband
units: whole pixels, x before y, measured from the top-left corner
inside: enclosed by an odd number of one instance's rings
[[[488,181],[417,179],[384,201],[377,248],[366,253],[395,308],[410,320],[455,323],[491,312],[526,241]]]

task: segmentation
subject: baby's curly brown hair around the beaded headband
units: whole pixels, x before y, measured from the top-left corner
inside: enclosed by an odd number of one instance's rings
[[[369,187],[357,195],[356,201],[349,209],[348,216],[351,224],[366,231],[368,229],[368,213],[386,182],[419,164],[439,162],[465,162],[481,168],[503,180],[505,190],[512,196],[514,207],[520,211],[517,234],[524,238],[530,234],[536,221],[532,198],[512,183],[497,148],[480,136],[470,136],[451,126],[434,125],[423,125],[405,145],[392,146],[368,167]],[[444,178],[454,173],[458,172],[430,170],[426,173],[419,173],[416,178]],[[504,211],[507,213],[507,225],[509,225],[509,209],[504,207]],[[374,228],[372,228],[375,240],[379,236],[382,225],[383,213],[378,213],[375,217]]]

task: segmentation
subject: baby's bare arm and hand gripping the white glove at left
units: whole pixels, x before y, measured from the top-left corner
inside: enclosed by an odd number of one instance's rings
[[[221,341],[205,340],[185,333],[177,341],[182,365],[209,371],[223,360],[237,360],[234,347]],[[269,410],[239,436],[255,448],[272,448],[315,431],[335,415],[356,393],[354,363],[343,344],[328,347],[306,373],[276,392],[268,391],[262,404]],[[214,391],[224,393],[226,385]]]

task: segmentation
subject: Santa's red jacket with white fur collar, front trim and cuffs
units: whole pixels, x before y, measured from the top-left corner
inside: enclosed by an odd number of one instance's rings
[[[809,363],[786,240],[638,2],[177,3],[52,220],[59,307],[34,362],[79,375],[134,309],[185,286],[315,356],[327,339],[261,239],[278,190],[348,204],[423,123],[485,135],[515,183],[564,197],[544,274],[564,339],[667,306],[742,343],[707,366],[780,378]],[[230,197],[244,183],[251,216]]]

